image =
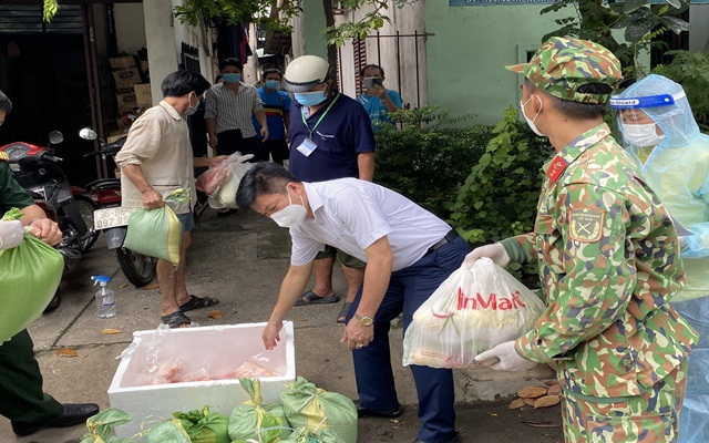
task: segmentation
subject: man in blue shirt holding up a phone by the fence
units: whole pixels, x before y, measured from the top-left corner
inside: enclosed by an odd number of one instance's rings
[[[372,128],[380,130],[387,123],[394,123],[390,112],[401,110],[401,95],[394,90],[384,87],[384,70],[378,64],[368,64],[360,71],[364,93],[357,101],[364,106],[364,111],[372,121]]]

